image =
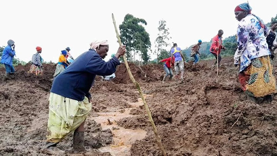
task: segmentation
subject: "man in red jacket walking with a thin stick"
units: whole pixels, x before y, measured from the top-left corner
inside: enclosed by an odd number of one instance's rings
[[[216,67],[216,63],[217,63],[217,54],[218,54],[218,65],[220,65],[220,61],[221,61],[221,56],[220,56],[220,51],[221,49],[226,49],[223,45],[222,45],[222,35],[223,35],[223,30],[219,30],[218,34],[212,39],[212,44],[210,47],[210,52],[215,56],[215,66]]]

